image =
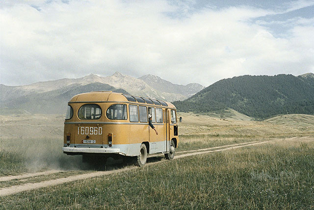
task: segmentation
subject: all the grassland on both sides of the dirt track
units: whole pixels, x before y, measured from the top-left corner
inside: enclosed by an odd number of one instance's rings
[[[160,161],[119,174],[0,197],[0,210],[314,209],[314,116],[284,115],[262,122],[243,116],[239,119],[192,113],[179,116],[183,116],[183,123],[177,152],[243,142],[272,142]],[[83,165],[80,156],[64,155],[62,133],[46,137],[47,133],[60,130],[59,116],[52,117],[56,119],[52,121],[54,125],[45,125],[43,121],[41,127],[34,126],[29,131],[41,133],[44,129],[45,136],[17,138],[16,133],[7,132],[12,131],[12,124],[1,128],[5,133],[0,138],[0,177],[49,169],[64,172],[0,182],[0,188],[106,170],[113,167],[110,164],[125,167],[121,161],[109,161],[106,166],[95,168]],[[27,122],[25,116],[23,119]],[[21,123],[19,128],[23,127]]]

